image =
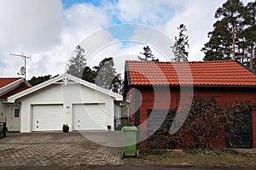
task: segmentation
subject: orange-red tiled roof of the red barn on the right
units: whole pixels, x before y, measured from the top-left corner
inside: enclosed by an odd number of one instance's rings
[[[129,85],[256,86],[256,75],[236,60],[127,61]]]

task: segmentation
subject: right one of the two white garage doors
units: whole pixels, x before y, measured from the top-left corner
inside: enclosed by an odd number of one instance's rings
[[[105,130],[105,105],[73,105],[74,130]]]

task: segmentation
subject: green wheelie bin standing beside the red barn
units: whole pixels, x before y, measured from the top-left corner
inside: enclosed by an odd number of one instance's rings
[[[122,158],[125,156],[135,156],[138,157],[137,151],[137,127],[135,126],[125,126],[122,128],[123,132],[123,154]]]

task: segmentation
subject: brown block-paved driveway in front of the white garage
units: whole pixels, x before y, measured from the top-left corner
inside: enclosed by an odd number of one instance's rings
[[[0,139],[0,169],[11,166],[119,165],[122,164],[122,149],[102,145],[112,143],[109,139],[117,142],[117,146],[121,144],[119,132],[115,133],[117,140],[104,138],[113,137],[113,133],[90,132],[90,138],[94,138],[98,144],[84,138],[86,134],[78,132],[8,133],[8,137]]]

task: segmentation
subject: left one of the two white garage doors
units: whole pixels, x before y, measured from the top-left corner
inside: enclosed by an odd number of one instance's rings
[[[32,105],[32,131],[61,130],[63,105]]]

